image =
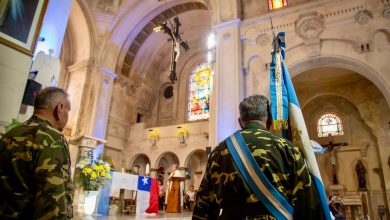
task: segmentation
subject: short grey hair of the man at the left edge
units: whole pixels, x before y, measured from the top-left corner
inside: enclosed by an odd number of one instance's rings
[[[53,109],[59,102],[68,98],[68,93],[58,87],[46,87],[35,97],[34,109]]]

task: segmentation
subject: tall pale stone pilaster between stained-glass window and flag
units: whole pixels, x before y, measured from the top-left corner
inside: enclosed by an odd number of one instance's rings
[[[215,146],[239,128],[238,105],[243,98],[240,19],[214,26],[216,63],[210,103],[210,146]]]

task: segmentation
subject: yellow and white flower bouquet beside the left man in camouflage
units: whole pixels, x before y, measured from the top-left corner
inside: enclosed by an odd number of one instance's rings
[[[111,179],[110,164],[104,162],[101,155],[93,160],[92,151],[88,152],[87,158],[81,160],[76,168],[80,170],[80,183],[84,191],[97,191]]]

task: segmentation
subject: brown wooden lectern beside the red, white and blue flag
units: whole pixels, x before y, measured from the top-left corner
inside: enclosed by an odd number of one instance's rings
[[[170,189],[168,190],[167,213],[181,212],[181,189],[180,182],[184,181],[185,177],[171,177]]]

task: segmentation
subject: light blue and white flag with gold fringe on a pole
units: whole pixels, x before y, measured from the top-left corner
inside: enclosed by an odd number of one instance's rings
[[[290,74],[288,73],[285,57],[285,33],[278,33],[274,39],[274,51],[270,69],[270,100],[271,114],[275,130],[287,129],[291,126],[292,141],[299,146],[316,186],[320,198],[324,219],[330,220],[328,200],[321,180],[312,143],[306,129],[303,114],[299,106]],[[288,123],[288,120],[289,123]]]

